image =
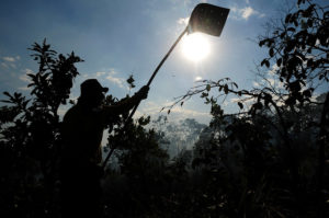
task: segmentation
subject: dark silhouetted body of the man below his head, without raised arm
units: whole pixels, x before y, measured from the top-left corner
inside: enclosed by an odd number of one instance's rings
[[[63,119],[61,200],[64,217],[99,217],[103,125],[99,112],[79,104]],[[77,216],[78,215],[78,216]]]

